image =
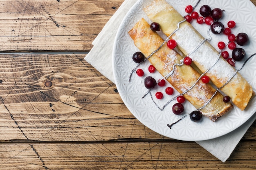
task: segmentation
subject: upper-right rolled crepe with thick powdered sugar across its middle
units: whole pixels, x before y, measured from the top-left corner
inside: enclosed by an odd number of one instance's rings
[[[154,0],[148,7],[144,8],[144,11],[150,20],[160,24],[161,30],[167,36],[171,35],[178,28],[179,22],[184,20],[182,15],[165,0]],[[187,21],[180,24],[179,29],[171,36],[171,39],[177,42],[178,49],[184,55],[189,55],[193,63],[203,73],[219,58],[219,52],[209,42],[205,41],[199,46],[204,38]],[[223,57],[220,57],[206,75],[210,77],[213,84],[220,88],[235,72],[236,70]],[[230,82],[221,88],[221,91],[228,95],[240,110],[244,110],[249,100],[254,96],[252,86],[239,73],[236,73]]]

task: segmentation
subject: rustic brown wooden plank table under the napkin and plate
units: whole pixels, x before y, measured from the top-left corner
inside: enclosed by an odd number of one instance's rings
[[[85,62],[122,2],[0,0],[0,169],[256,169],[256,122],[222,163],[146,128]]]

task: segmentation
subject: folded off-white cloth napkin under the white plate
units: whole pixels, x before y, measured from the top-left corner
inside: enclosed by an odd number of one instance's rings
[[[125,0],[116,13],[110,18],[102,29],[101,33],[92,42],[92,50],[86,55],[85,60],[96,68],[102,75],[115,83],[112,71],[112,49],[117,29],[121,24],[128,10],[137,0]],[[248,128],[256,119],[256,114],[249,119],[243,126],[240,126],[233,132],[216,139],[206,141],[195,141],[216,158],[225,162],[233,150],[236,148],[240,139],[244,136]]]

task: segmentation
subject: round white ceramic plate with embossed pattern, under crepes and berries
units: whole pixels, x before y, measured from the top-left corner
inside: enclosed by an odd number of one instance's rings
[[[149,62],[146,61],[139,68],[142,68],[145,72],[144,77],[139,77],[136,74],[132,75],[131,82],[128,82],[129,75],[132,69],[136,66],[132,61],[132,54],[139,51],[134,45],[132,39],[128,35],[128,31],[132,29],[135,23],[145,18],[148,23],[151,23],[143,11],[143,8],[150,3],[151,0],[139,0],[124,18],[115,40],[113,50],[113,71],[117,89],[123,99],[124,103],[131,111],[131,113],[148,128],[158,132],[161,135],[170,137],[173,139],[184,141],[200,141],[213,139],[225,135],[242,124],[244,124],[254,113],[256,112],[256,98],[247,106],[246,110],[240,111],[236,106],[226,115],[222,116],[216,122],[212,122],[210,119],[203,117],[202,121],[195,123],[190,120],[189,116],[182,119],[179,123],[175,124],[172,129],[168,128],[167,124],[172,124],[184,115],[188,115],[195,108],[189,103],[185,102],[185,113],[182,116],[177,116],[172,113],[172,106],[175,102],[172,102],[166,106],[164,110],[159,110],[152,102],[150,95],[147,95],[144,99],[141,97],[147,92],[144,87],[144,78],[146,76],[153,76],[155,79],[160,79],[159,73],[148,73],[147,68]],[[185,7],[189,4],[194,6],[196,0],[167,0],[182,16],[185,16]],[[198,11],[202,5],[208,4],[212,9],[220,8],[224,9],[224,16],[220,20],[225,26],[229,20],[236,21],[236,27],[232,29],[232,33],[235,35],[240,32],[245,32],[249,35],[250,42],[246,46],[243,46],[247,56],[256,52],[256,7],[249,0],[201,0],[194,11]],[[193,20],[191,23],[195,29],[197,29],[204,37],[207,37],[207,30],[209,26],[206,24],[198,24]],[[212,35],[211,44],[217,49],[217,43],[219,41],[228,41],[225,35]],[[230,51],[229,51],[230,52]],[[230,53],[231,54],[231,53]],[[239,68],[243,62],[237,62],[236,68]],[[247,79],[249,84],[253,86],[256,91],[256,56],[253,57],[240,73]],[[170,86],[166,84],[165,88]],[[157,91],[164,91],[163,87],[154,88],[153,94]],[[164,95],[161,100],[155,99],[157,104],[161,107],[170,98],[174,97],[178,93],[175,92],[172,96]]]

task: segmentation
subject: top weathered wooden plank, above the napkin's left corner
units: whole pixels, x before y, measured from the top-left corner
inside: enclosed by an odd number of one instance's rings
[[[0,51],[90,51],[122,2],[0,0]]]

